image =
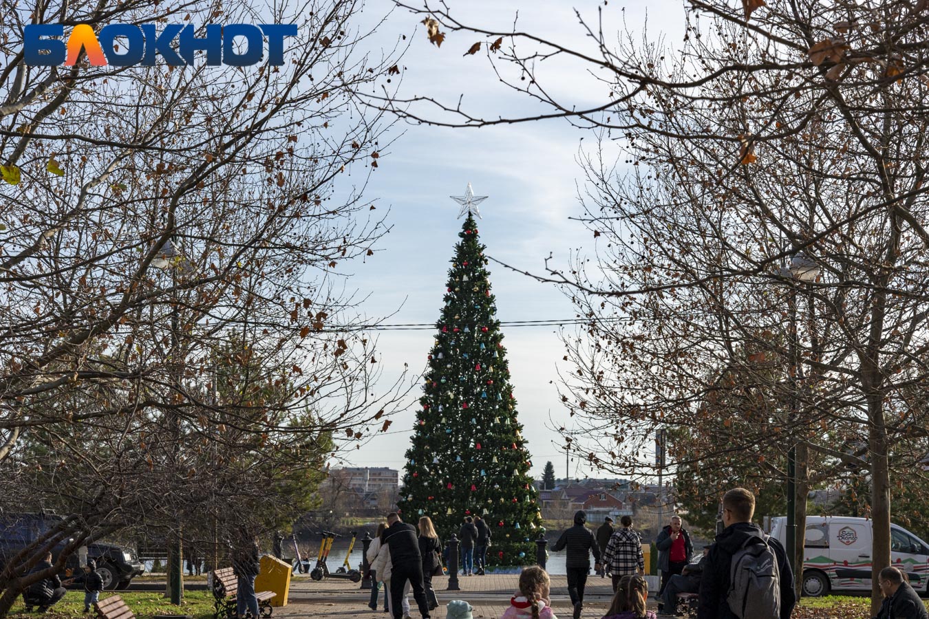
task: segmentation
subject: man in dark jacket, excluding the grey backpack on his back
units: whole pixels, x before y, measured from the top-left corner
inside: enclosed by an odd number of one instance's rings
[[[723,496],[723,524],[726,528],[710,548],[700,578],[700,606],[697,619],[735,619],[729,609],[726,596],[729,593],[732,572],[732,555],[755,536],[765,539],[766,535],[757,524],[752,523],[754,495],[745,488],[733,488]],[[796,596],[793,592],[791,562],[780,542],[767,537],[768,547],[778,560],[780,578],[780,619],[790,619]]]

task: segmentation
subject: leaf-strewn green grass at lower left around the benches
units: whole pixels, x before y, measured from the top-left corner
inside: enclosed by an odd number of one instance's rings
[[[114,595],[111,591],[106,591],[100,595],[101,600]],[[123,596],[126,604],[136,613],[137,617],[145,618],[156,614],[190,614],[195,619],[206,619],[213,617],[213,594],[209,591],[185,591],[184,605],[173,606],[169,600],[164,598],[164,594],[159,591],[123,591],[119,595]],[[10,609],[10,615],[16,615],[20,619],[25,617],[43,617],[47,619],[59,619],[63,617],[92,617],[93,613],[84,614],[84,591],[68,591],[64,599],[55,604],[48,613],[38,615],[35,613],[26,613],[22,605],[22,598]]]

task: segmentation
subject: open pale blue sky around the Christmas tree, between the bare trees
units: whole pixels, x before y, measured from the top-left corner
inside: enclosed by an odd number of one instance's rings
[[[368,19],[389,10],[387,0],[375,0],[366,9]],[[519,11],[520,29],[543,32],[571,45],[590,45],[577,25],[572,6],[596,19],[597,6],[604,11],[605,28],[613,32],[622,25],[639,31],[646,22],[650,32],[670,32],[674,43],[683,32],[683,9],[677,0],[648,3],[610,1],[534,0],[491,2],[450,0],[459,19],[489,23],[504,28]],[[477,38],[450,34],[441,48],[430,45],[417,19],[395,10],[368,45],[392,46],[407,34],[410,50],[401,65],[401,94],[430,95],[453,103],[464,93],[464,106],[497,113],[526,112],[525,97],[507,93],[483,52],[463,58]],[[589,41],[589,40],[588,40]],[[551,62],[544,68],[546,86],[572,101],[602,100],[604,84],[596,84],[578,66]],[[405,132],[398,135],[399,132]],[[477,195],[490,196],[480,205],[483,220],[480,237],[492,257],[521,269],[541,272],[543,259],[551,252],[553,264],[567,266],[571,251],[594,254],[594,239],[569,216],[581,213],[577,183],[582,173],[576,161],[582,137],[592,136],[565,122],[525,123],[485,129],[442,129],[399,126],[396,141],[381,152],[367,198],[377,200],[378,210],[390,209],[390,234],[373,258],[356,264],[351,285],[369,295],[362,305],[367,316],[397,312],[389,323],[433,323],[438,318],[452,248],[461,227],[458,205],[449,196],[462,195],[468,182]],[[555,287],[531,280],[491,263],[491,285],[497,298],[498,317],[503,320],[572,318],[569,300]],[[398,311],[399,310],[399,311]],[[571,328],[572,329],[572,328]],[[431,330],[382,331],[378,349],[382,355],[384,382],[395,378],[404,363],[415,373],[425,368],[432,344]],[[555,423],[570,424],[556,392],[556,368],[564,355],[556,328],[504,328],[519,419],[532,454],[532,474],[540,476],[546,460],[556,472],[565,472],[564,453],[558,452],[550,430],[549,411]],[[418,397],[419,388],[414,388]],[[374,438],[349,455],[351,465],[390,466],[402,469],[409,443],[415,399],[394,418],[391,433]],[[568,425],[570,427],[570,425]],[[571,474],[595,474],[582,464],[572,463]]]

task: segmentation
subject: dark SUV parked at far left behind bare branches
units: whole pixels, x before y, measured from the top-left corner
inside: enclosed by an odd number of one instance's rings
[[[48,513],[7,512],[0,514],[0,565],[60,521],[60,516]],[[64,548],[63,543],[52,549],[52,556],[55,559],[58,559],[62,548]],[[105,589],[129,587],[133,578],[145,572],[145,566],[138,561],[135,552],[112,544],[100,542],[88,544],[87,558],[97,561],[97,572],[103,579]],[[69,557],[66,574],[63,575],[73,574],[80,582],[83,571],[78,565],[79,562],[76,553]]]

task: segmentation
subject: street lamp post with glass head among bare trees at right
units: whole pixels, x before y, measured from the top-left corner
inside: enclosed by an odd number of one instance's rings
[[[800,373],[800,342],[797,338],[797,283],[815,281],[819,267],[803,251],[791,259],[791,266],[781,270],[782,275],[791,278],[791,294],[788,299],[791,310],[791,419],[800,410],[800,389],[797,376]],[[805,497],[804,497],[805,499]],[[794,577],[803,581],[803,552],[797,551],[797,443],[791,441],[787,450],[787,551],[791,561]]]

